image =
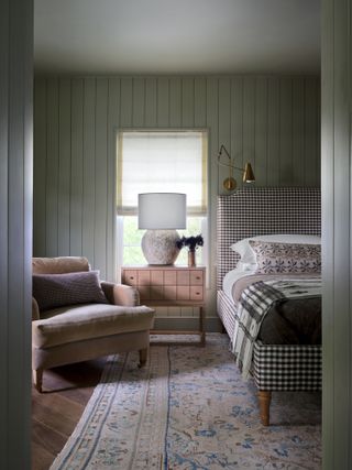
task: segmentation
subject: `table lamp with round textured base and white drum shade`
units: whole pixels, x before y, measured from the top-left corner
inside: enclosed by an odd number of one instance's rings
[[[176,229],[185,228],[185,194],[139,194],[139,229],[146,229],[142,251],[148,264],[174,264],[179,253]]]

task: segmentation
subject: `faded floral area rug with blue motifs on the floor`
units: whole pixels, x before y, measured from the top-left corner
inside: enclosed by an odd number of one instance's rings
[[[271,426],[243,382],[226,335],[205,348],[152,346],[109,357],[52,470],[320,469],[318,393],[273,393]]]

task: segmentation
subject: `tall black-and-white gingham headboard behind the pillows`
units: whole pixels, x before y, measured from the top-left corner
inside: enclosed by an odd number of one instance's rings
[[[271,233],[320,234],[320,188],[258,187],[218,196],[218,288],[240,259],[231,244]]]

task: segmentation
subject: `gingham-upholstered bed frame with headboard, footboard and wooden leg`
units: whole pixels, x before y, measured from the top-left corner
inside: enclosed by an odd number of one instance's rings
[[[224,289],[224,280],[228,273],[239,269],[242,259],[230,247],[240,240],[266,234],[320,237],[320,227],[319,188],[245,188],[219,196],[217,304],[232,347],[239,305],[229,295],[229,286]],[[321,343],[264,343],[258,336],[253,343],[250,373],[258,390],[261,420],[267,426],[273,391],[321,390]]]

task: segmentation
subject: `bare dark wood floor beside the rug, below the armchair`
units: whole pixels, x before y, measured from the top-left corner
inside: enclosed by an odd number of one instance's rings
[[[47,470],[78,423],[105,359],[44,372],[44,393],[32,389],[32,470]]]

